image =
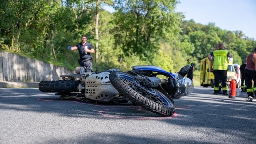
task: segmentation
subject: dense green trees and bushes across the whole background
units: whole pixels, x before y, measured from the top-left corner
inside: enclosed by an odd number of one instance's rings
[[[100,70],[152,64],[177,72],[188,58],[199,65],[224,42],[234,62],[256,46],[243,32],[196,24],[176,12],[178,0],[3,0],[0,5],[0,50],[74,69],[78,52],[68,45],[86,34],[96,48]],[[113,13],[103,9],[110,6]],[[197,66],[198,70],[200,67]]]

